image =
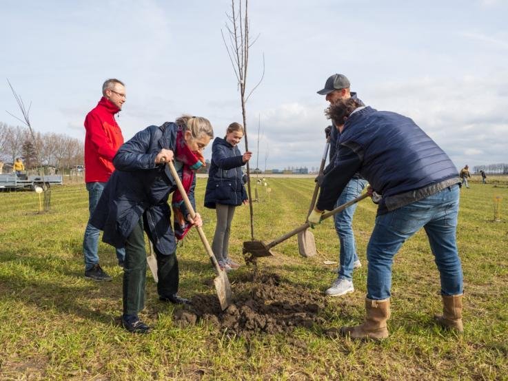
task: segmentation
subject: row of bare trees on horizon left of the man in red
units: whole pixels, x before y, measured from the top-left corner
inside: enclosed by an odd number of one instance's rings
[[[39,148],[41,163],[37,161],[35,144]],[[0,122],[0,160],[14,163],[17,157],[22,157],[25,167],[32,169],[39,165],[55,168],[70,169],[76,165],[83,165],[83,142],[65,134],[35,133],[35,142],[30,136],[28,127],[12,126]]]

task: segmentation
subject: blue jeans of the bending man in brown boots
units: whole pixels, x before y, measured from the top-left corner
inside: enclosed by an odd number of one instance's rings
[[[389,298],[393,258],[405,240],[422,227],[429,238],[434,262],[439,270],[441,294],[450,296],[463,293],[463,273],[456,243],[458,198],[459,187],[453,185],[376,217],[376,225],[367,246],[367,298]],[[425,263],[424,258],[421,261]]]

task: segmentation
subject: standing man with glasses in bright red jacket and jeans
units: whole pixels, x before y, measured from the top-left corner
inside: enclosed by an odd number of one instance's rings
[[[88,209],[92,216],[105,183],[114,171],[113,157],[123,144],[123,136],[114,114],[125,102],[125,85],[118,79],[108,79],[102,85],[103,97],[85,119],[85,182],[88,190]],[[90,225],[85,229],[83,254],[85,278],[111,280],[99,265],[99,229]],[[116,249],[118,263],[123,267],[125,249]]]

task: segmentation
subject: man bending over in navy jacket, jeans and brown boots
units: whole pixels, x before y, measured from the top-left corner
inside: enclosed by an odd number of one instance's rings
[[[334,208],[338,195],[357,172],[369,182],[369,192],[381,195],[367,246],[365,321],[343,327],[341,333],[353,339],[389,336],[393,259],[405,240],[422,227],[440,273],[443,315],[435,316],[436,322],[463,331],[463,272],[456,244],[460,178],[456,167],[406,116],[363,107],[355,99],[337,101],[327,114],[341,132],[338,165],[324,176],[309,223],[319,223],[323,211]]]

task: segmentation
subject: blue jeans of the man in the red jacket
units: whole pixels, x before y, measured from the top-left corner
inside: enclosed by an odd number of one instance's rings
[[[88,209],[90,210],[90,218],[94,213],[97,203],[101,198],[102,191],[104,190],[105,183],[86,183],[86,190],[88,190]],[[85,237],[83,238],[83,254],[85,256],[85,270],[90,270],[94,265],[99,263],[99,256],[97,250],[99,249],[99,234],[100,230],[90,225],[90,219],[85,229]],[[125,260],[125,249],[116,249],[116,258],[119,262]]]

